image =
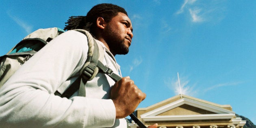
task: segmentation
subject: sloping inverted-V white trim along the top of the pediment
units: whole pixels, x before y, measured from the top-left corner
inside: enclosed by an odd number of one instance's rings
[[[211,111],[211,112],[214,112],[214,113],[217,113],[217,114],[224,114],[224,113],[235,114],[233,111],[229,111],[229,110],[226,110],[224,108],[220,108],[220,107],[217,107],[217,106],[214,106],[214,105],[211,105],[211,104],[206,104],[204,102],[200,102],[200,101],[197,101],[197,100],[191,100],[189,98],[182,98],[182,99],[177,100],[175,102],[171,102],[169,104],[166,104],[164,106],[156,108],[152,111],[144,113],[144,114],[141,115],[141,117],[156,116],[158,114],[164,113],[166,111],[169,111],[169,110],[171,110],[173,108],[176,108],[178,106],[181,106],[183,104],[188,104],[188,105],[191,105],[191,106],[194,106],[194,107],[197,107],[197,108],[201,108],[201,109],[204,109],[204,110],[207,110],[207,111]]]

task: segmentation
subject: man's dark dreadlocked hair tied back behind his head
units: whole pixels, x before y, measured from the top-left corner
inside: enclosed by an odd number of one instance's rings
[[[117,16],[119,12],[128,16],[124,8],[115,4],[98,4],[91,8],[86,16],[69,17],[69,20],[65,23],[67,25],[65,25],[64,30],[85,29],[94,36],[98,17],[102,17],[106,22],[109,22],[113,17]]]

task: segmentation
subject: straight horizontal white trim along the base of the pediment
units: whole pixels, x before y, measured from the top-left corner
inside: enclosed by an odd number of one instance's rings
[[[164,115],[141,117],[143,121],[172,121],[172,120],[199,120],[199,119],[232,119],[235,114],[202,114],[202,115]]]

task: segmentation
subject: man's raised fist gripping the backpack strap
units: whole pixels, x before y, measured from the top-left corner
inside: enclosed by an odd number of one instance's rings
[[[117,81],[111,89],[111,99],[115,104],[116,119],[130,115],[145,98],[146,94],[134,84],[129,76]]]

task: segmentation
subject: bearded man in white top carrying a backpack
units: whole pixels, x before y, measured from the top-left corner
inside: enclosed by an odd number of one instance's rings
[[[79,76],[87,59],[87,37],[72,29],[88,30],[106,51],[104,65],[116,74],[116,54],[127,54],[132,23],[126,11],[113,4],[98,4],[86,17],[72,17],[65,29],[28,60],[0,89],[1,127],[126,127],[130,115],[145,99],[130,77],[114,82],[98,73],[85,85],[86,97],[61,98],[53,93]],[[156,128],[157,124],[150,126]]]

